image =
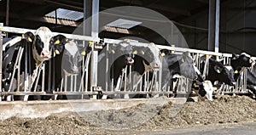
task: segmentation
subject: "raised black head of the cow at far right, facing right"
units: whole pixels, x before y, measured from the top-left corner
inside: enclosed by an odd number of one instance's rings
[[[240,55],[232,54],[231,65],[234,69],[237,67],[251,67],[254,65],[253,58],[247,53],[241,53]]]

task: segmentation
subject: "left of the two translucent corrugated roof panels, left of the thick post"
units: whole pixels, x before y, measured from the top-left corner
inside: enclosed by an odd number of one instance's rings
[[[50,12],[49,14],[45,14],[47,17],[55,17],[55,10]],[[84,17],[83,12],[79,11],[73,11],[73,10],[68,10],[65,8],[57,8],[57,18],[58,19],[65,19],[65,20],[80,20]]]

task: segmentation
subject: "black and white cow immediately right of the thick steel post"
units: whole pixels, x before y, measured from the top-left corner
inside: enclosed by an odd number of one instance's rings
[[[108,65],[107,65],[108,55]],[[108,82],[108,89],[111,88],[111,82],[113,80],[113,87],[117,85],[119,76],[122,73],[122,69],[126,65],[132,65],[134,62],[134,54],[132,53],[132,47],[128,42],[120,42],[119,44],[109,44],[108,50],[103,48],[98,56],[98,85],[106,90],[106,82]],[[106,69],[106,67],[108,68]]]

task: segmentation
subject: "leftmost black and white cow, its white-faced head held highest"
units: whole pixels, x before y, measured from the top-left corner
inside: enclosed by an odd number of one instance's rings
[[[32,32],[26,32],[22,39],[16,40],[17,38],[14,38],[13,40],[10,40],[9,42],[5,42],[3,44],[3,87],[5,90],[9,90],[9,82],[12,76],[15,76],[15,80],[17,80],[17,74],[13,75],[13,70],[15,69],[15,61],[19,52],[20,48],[25,48],[25,51],[22,53],[21,62],[20,62],[20,75],[21,74],[27,74],[28,76],[32,76],[30,80],[30,86],[32,86],[33,82],[35,81],[35,78],[38,75],[38,68],[39,65],[41,65],[45,60],[49,60],[51,58],[50,55],[50,48],[49,48],[49,40],[52,36],[51,31],[47,27],[40,27],[38,28],[35,33]],[[26,53],[27,52],[27,53]],[[28,63],[26,63],[26,56],[29,60]],[[27,65],[27,69],[25,68],[25,65]],[[23,77],[23,76],[21,76]],[[25,83],[18,84],[19,86],[12,86],[10,91],[14,91],[15,88],[21,87],[26,90],[28,90],[30,87],[28,87],[28,78],[23,77],[20,78],[20,80],[24,80]],[[25,98],[26,99],[26,98]]]

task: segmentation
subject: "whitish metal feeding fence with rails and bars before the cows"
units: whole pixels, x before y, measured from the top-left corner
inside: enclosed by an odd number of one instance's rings
[[[3,59],[3,32],[11,32],[11,33],[16,33],[16,34],[22,34],[26,33],[27,31],[32,31],[35,32],[36,30],[30,30],[30,29],[21,29],[21,28],[14,28],[14,27],[8,27],[8,26],[3,26],[0,24],[0,59]],[[109,57],[108,56],[108,51],[109,51],[109,45],[111,44],[120,44],[120,42],[124,42],[123,40],[115,40],[115,39],[108,39],[104,38],[100,40],[99,38],[95,37],[86,37],[86,36],[80,36],[80,35],[73,35],[73,34],[67,34],[67,33],[58,33],[58,32],[52,32],[53,35],[63,35],[69,39],[73,39],[76,41],[83,41],[83,42],[94,42],[91,47],[92,47],[92,52],[90,52],[87,56],[84,56],[83,58],[83,67],[82,67],[82,73],[81,73],[81,82],[77,84],[77,76],[65,76],[64,80],[61,82],[61,88],[58,90],[55,90],[52,93],[47,93],[44,91],[44,86],[42,88],[42,91],[37,91],[36,89],[34,90],[17,90],[17,92],[14,92],[9,89],[9,91],[3,91],[3,86],[2,83],[0,83],[0,101],[2,100],[3,96],[14,96],[14,95],[94,95],[93,98],[96,98],[96,95],[102,95],[103,97],[106,98],[106,95],[123,95],[126,98],[129,98],[129,95],[132,94],[143,94],[143,95],[159,95],[159,94],[165,94],[165,95],[173,95],[173,94],[186,94],[189,93],[189,80],[186,78],[179,78],[178,80],[178,85],[177,85],[177,92],[173,91],[173,84],[170,86],[166,86],[164,89],[162,89],[163,86],[161,86],[161,77],[163,76],[161,71],[154,70],[154,79],[152,79],[151,82],[148,80],[148,73],[143,75],[143,77],[138,80],[136,84],[131,82],[133,80],[133,76],[127,75],[127,70],[131,69],[131,66],[126,67],[125,70],[122,71],[122,76],[119,77],[119,82],[118,82],[118,87],[113,86],[113,82],[105,82],[103,85],[105,88],[101,89],[100,87],[97,87],[97,78],[96,74],[94,72],[97,72],[98,67],[94,69],[93,67],[97,67],[98,63],[98,54],[99,54],[99,49],[96,48],[96,44],[103,41],[102,44],[105,44],[107,49],[105,50],[106,52],[106,66],[102,69],[105,70],[105,73],[108,73],[108,70],[110,67],[108,66],[109,64]],[[221,58],[224,58],[224,65],[230,65],[230,58],[232,57],[232,54],[230,53],[215,53],[215,52],[210,52],[210,51],[204,51],[204,50],[197,50],[197,49],[190,49],[190,48],[177,48],[177,47],[172,47],[172,46],[164,46],[164,45],[157,45],[153,43],[143,43],[143,42],[137,42],[133,40],[125,40],[125,42],[128,42],[131,46],[135,47],[148,47],[148,45],[153,45],[158,49],[169,49],[174,51],[174,53],[184,53],[184,52],[189,52],[193,54],[193,58],[195,60],[195,66],[200,68],[200,59],[201,55],[212,55],[212,56],[218,56]],[[154,55],[157,55],[154,53]],[[92,57],[93,56],[93,57]],[[207,63],[206,63],[207,65]],[[0,60],[0,67],[2,68],[2,60]],[[18,68],[19,69],[19,68]],[[19,71],[18,71],[19,72]],[[44,73],[44,67],[42,72]],[[0,71],[0,81],[2,82],[2,70]],[[39,73],[40,74],[40,73]],[[95,79],[94,83],[91,82],[91,76]],[[244,73],[244,78],[246,78],[246,73]],[[69,82],[67,80],[70,80]],[[44,81],[44,79],[43,79]],[[130,81],[130,82],[129,82]],[[19,82],[19,81],[18,81]],[[11,86],[12,86],[11,82]],[[19,83],[18,83],[19,84]],[[70,84],[71,86],[68,86],[67,84]],[[125,87],[121,87],[122,85],[125,85]],[[246,82],[241,82],[240,85],[236,85],[236,87],[228,87],[224,86],[224,88],[221,90],[221,93],[247,93],[246,89]],[[63,88],[64,87],[64,88]],[[67,87],[72,87],[67,89]],[[134,88],[135,87],[135,88]],[[171,88],[170,88],[171,87]],[[175,87],[175,86],[174,86]],[[216,93],[216,92],[215,92]],[[105,95],[105,96],[104,96]]]

